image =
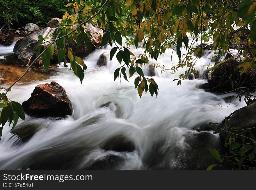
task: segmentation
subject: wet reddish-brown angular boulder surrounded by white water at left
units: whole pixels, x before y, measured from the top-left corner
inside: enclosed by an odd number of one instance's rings
[[[36,86],[31,97],[22,106],[26,113],[33,116],[65,117],[72,114],[67,93],[56,82]]]

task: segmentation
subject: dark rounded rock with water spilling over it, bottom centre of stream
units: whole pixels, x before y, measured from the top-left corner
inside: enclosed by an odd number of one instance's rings
[[[113,150],[117,152],[132,152],[135,150],[134,142],[126,136],[118,135],[106,142],[103,142],[101,148],[104,150]]]

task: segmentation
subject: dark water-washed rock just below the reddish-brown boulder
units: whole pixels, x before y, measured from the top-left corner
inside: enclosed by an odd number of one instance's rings
[[[43,128],[42,125],[37,123],[27,123],[24,122],[23,124],[20,124],[16,126],[11,133],[17,135],[22,142],[28,141],[37,131],[41,130]]]

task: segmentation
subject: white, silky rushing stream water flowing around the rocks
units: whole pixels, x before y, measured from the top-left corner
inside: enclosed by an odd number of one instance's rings
[[[10,47],[0,47],[6,54]],[[113,72],[120,66],[115,56],[106,67],[97,67],[102,53],[109,54],[110,47],[96,50],[86,57],[88,69],[83,84],[72,71],[63,65],[56,68],[50,79],[17,85],[9,98],[22,103],[30,97],[38,84],[55,81],[67,91],[72,102],[73,114],[65,119],[34,118],[26,115],[26,121],[18,126],[37,125],[41,130],[22,143],[10,133],[8,125],[3,128],[0,143],[0,169],[195,169],[200,168],[191,153],[196,148],[218,147],[218,135],[213,131],[191,130],[207,122],[221,122],[225,116],[244,106],[234,100],[225,102],[226,95],[205,92],[198,86],[206,79],[184,80],[177,86],[173,79],[179,76],[156,70],[153,77],[159,86],[159,95],[151,97],[143,93],[141,99],[130,82],[120,78],[113,81]],[[131,47],[134,55],[143,48]],[[165,66],[178,62],[176,52],[166,50],[159,59]],[[2,51],[3,52],[3,51]],[[185,49],[183,49],[185,52]],[[209,52],[198,59],[195,68],[203,76],[211,57]],[[147,73],[147,68],[143,68]],[[183,70],[184,71],[184,70]],[[128,74],[128,73],[127,73]],[[108,107],[102,104],[112,102]],[[229,106],[228,106],[229,105]],[[228,107],[225,107],[228,106]],[[135,144],[132,152],[105,151],[101,144],[112,137],[122,135]],[[202,147],[201,147],[202,146]]]

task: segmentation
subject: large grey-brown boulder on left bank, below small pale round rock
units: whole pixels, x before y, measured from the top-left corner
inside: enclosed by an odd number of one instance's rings
[[[47,27],[18,40],[13,48],[13,59],[17,63],[29,65],[36,55],[36,51],[33,48],[35,43],[38,42],[38,36],[49,37],[54,31],[55,29]]]

